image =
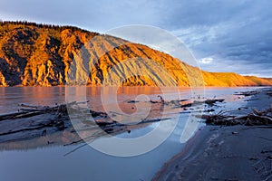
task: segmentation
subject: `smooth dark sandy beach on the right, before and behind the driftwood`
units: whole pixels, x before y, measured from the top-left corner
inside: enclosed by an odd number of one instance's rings
[[[270,95],[262,91],[248,101],[248,111],[270,105]],[[272,180],[271,129],[271,125],[205,126],[153,180]]]

